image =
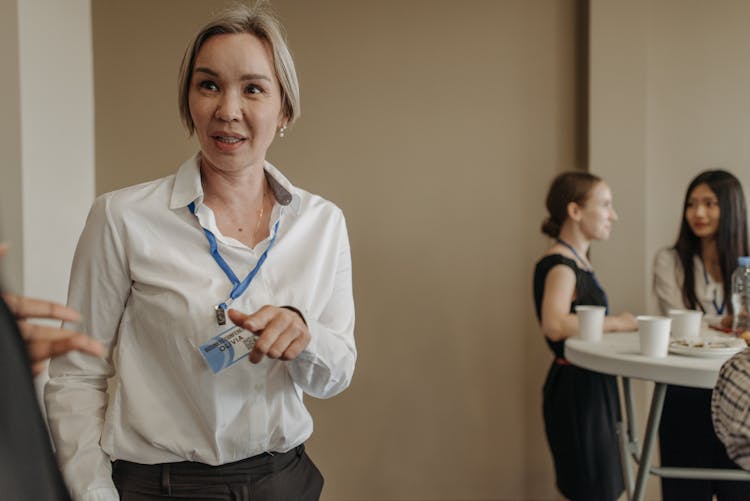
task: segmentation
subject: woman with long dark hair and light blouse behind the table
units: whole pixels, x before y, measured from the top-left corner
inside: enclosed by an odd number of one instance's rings
[[[703,311],[707,320],[728,320],[731,275],[748,255],[747,209],[740,182],[727,171],[708,170],[685,193],[677,242],[654,261],[654,293],[663,314],[670,309]],[[689,437],[689,440],[686,440]],[[711,423],[711,390],[667,388],[659,426],[664,466],[736,468]],[[662,479],[665,501],[750,499],[750,483]]]

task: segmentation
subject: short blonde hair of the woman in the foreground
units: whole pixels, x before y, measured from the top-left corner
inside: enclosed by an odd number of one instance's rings
[[[215,35],[250,33],[266,42],[273,53],[276,78],[281,86],[281,108],[287,123],[294,123],[302,113],[299,99],[299,82],[292,54],[284,39],[283,28],[265,1],[254,5],[236,4],[220,12],[193,37],[182,57],[179,74],[178,105],[180,119],[187,131],[195,132],[190,116],[190,84],[195,67],[195,57],[203,44]]]

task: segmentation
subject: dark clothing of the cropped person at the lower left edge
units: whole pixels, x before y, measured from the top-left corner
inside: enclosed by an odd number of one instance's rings
[[[0,498],[69,500],[15,318],[0,299]]]

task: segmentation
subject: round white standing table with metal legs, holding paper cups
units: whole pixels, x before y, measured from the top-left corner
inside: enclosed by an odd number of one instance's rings
[[[704,332],[714,336],[716,334]],[[645,495],[649,473],[668,478],[702,478],[715,480],[750,480],[750,472],[707,468],[651,467],[656,435],[664,407],[667,385],[713,388],[719,369],[731,355],[717,357],[691,357],[669,354],[666,358],[651,358],[640,354],[637,332],[604,334],[600,342],[570,338],[565,342],[565,358],[573,365],[603,374],[617,376],[622,380],[626,421],[617,425],[620,440],[623,475],[628,499],[641,501]],[[630,379],[654,382],[643,451],[638,445],[633,413]],[[629,456],[638,466],[637,478],[633,482],[633,471]]]

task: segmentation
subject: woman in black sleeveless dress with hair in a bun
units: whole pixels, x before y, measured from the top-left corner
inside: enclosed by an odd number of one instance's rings
[[[542,231],[555,244],[536,264],[534,300],[554,355],[543,390],[544,424],[557,487],[572,501],[614,501],[624,489],[615,424],[620,418],[614,377],[571,365],[565,339],[578,333],[576,305],[607,307],[605,331],[635,330],[630,313],[610,316],[607,295],[588,261],[594,240],[609,237],[617,215],[600,178],[567,172],[547,195]]]

